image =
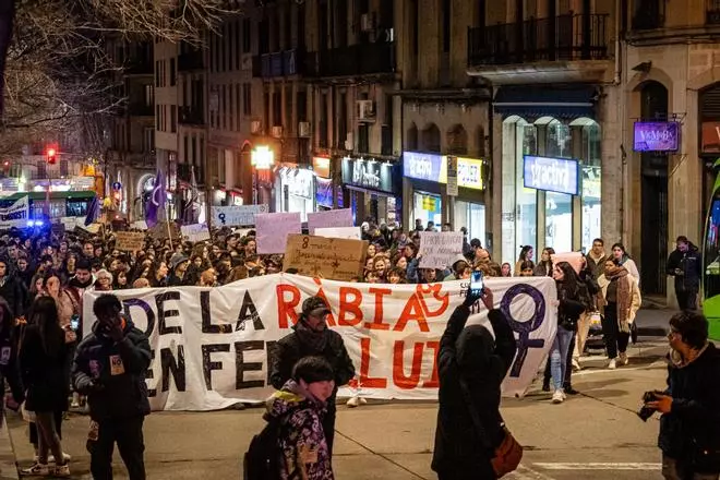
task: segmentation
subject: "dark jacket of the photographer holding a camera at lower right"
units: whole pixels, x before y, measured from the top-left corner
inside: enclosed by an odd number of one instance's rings
[[[667,394],[670,413],[660,419],[658,446],[667,456],[693,464],[694,472],[720,472],[720,350],[708,344],[695,361],[669,356]],[[715,451],[715,461],[696,465],[697,447]]]

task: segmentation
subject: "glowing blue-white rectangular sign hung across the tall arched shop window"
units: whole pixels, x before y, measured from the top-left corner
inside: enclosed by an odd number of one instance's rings
[[[577,160],[526,155],[523,163],[526,188],[568,195],[578,194],[579,163]]]

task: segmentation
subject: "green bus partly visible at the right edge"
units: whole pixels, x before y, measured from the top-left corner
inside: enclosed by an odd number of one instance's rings
[[[720,340],[720,158],[705,220],[703,242],[703,313],[710,323],[710,338]]]

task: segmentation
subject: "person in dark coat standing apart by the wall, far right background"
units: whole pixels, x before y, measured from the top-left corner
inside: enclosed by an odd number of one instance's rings
[[[687,237],[680,236],[675,250],[668,257],[668,275],[675,277],[675,298],[680,310],[696,310],[700,291],[703,259]]]

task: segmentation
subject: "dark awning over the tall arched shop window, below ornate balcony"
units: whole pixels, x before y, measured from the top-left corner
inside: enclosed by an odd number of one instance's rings
[[[593,119],[597,98],[595,86],[507,85],[500,87],[493,106],[504,117],[516,115],[525,119]]]

